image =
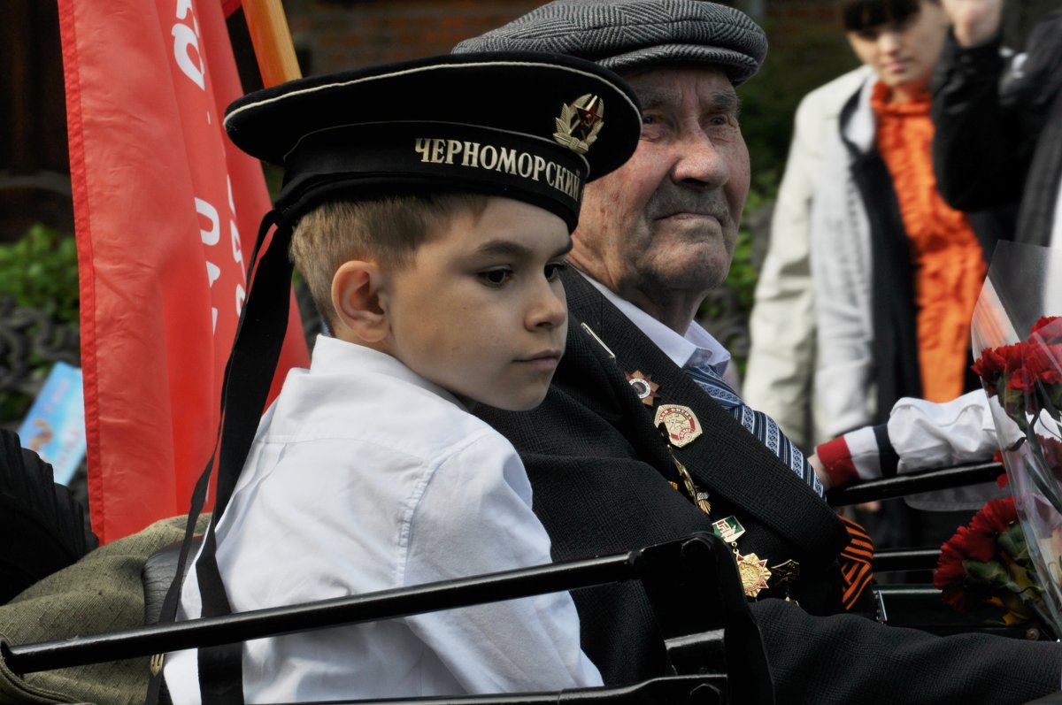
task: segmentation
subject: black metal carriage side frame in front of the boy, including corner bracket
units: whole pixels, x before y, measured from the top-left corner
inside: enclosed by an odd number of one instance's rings
[[[695,534],[623,554],[371,595],[144,626],[99,636],[22,646],[0,644],[0,653],[7,668],[15,673],[24,674],[628,580],[640,581],[650,596],[671,659],[674,673],[672,677],[654,678],[622,688],[373,702],[424,701],[455,705],[575,701],[749,705],[774,702],[763,640],[749,611],[737,567],[726,545],[710,534]],[[680,609],[680,604],[688,604],[683,598],[687,594],[697,595],[704,608]],[[715,599],[705,599],[706,597]],[[731,689],[727,687],[729,683],[739,687]]]

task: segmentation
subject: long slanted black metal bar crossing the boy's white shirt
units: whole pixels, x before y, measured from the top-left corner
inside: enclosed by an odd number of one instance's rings
[[[3,656],[8,668],[24,674],[571,590],[636,578],[644,550],[98,636],[5,646]]]

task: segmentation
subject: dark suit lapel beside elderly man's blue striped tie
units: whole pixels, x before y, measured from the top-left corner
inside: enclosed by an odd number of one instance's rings
[[[564,274],[573,329],[585,323],[616,356],[617,374],[639,371],[660,384],[653,409],[630,392],[624,413],[644,417],[647,433],[655,436],[652,415],[661,403],[692,409],[704,434],[674,449],[698,482],[726,498],[778,535],[808,553],[836,555],[847,537],[835,512],[785,465],[716,403],[670,358],[613,306],[578,272]],[[575,330],[579,336],[581,331]],[[658,443],[663,448],[663,443]],[[671,475],[670,472],[668,475]],[[836,540],[829,540],[832,533]]]

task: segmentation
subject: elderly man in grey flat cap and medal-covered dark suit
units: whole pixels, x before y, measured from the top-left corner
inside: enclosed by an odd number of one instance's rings
[[[749,189],[734,88],[764,58],[763,31],[709,2],[554,0],[455,51],[492,49],[594,58],[644,110],[634,157],[586,188],[564,274],[567,353],[545,403],[480,412],[521,451],[554,558],[715,529],[741,564],[780,703],[1024,703],[1058,690],[1056,644],[838,614],[861,587],[858,564],[844,583],[838,557],[857,551],[800,451],[726,386],[730,356],[693,323],[726,276]],[[599,115],[607,122],[607,106]],[[640,586],[575,598],[606,683],[666,671]]]

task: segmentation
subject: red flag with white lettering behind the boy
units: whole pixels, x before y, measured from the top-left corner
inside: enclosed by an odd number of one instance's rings
[[[270,202],[220,0],[58,0],[92,528],[188,512]],[[308,360],[297,309],[274,380]]]

